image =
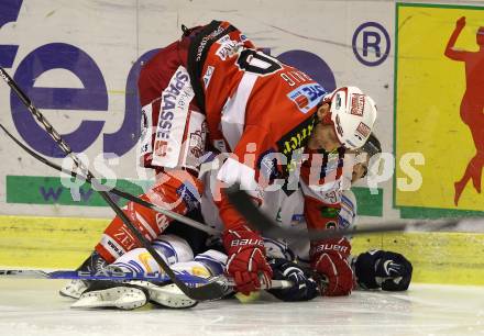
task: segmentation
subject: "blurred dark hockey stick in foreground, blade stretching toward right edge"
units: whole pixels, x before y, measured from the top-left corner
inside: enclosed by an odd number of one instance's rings
[[[328,239],[341,236],[355,236],[364,234],[376,234],[384,232],[406,232],[410,229],[424,229],[425,231],[441,231],[443,228],[457,226],[462,219],[449,219],[439,222],[418,221],[414,223],[385,223],[376,225],[367,225],[362,228],[351,229],[324,229],[324,231],[295,231],[289,228],[283,228],[278,224],[271,221],[265,214],[263,214],[254,205],[251,198],[242,190],[239,184],[233,184],[226,190],[232,205],[248,220],[253,228],[261,232],[263,236],[277,237],[277,238],[294,238],[294,239]]]

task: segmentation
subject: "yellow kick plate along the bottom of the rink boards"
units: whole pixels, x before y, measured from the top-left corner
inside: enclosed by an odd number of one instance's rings
[[[6,267],[69,269],[79,266],[109,220],[0,216],[0,260]],[[353,253],[370,248],[404,254],[414,281],[484,285],[484,234],[405,233],[361,236]]]

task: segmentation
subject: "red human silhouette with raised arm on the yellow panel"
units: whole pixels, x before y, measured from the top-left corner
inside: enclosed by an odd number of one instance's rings
[[[454,48],[459,34],[465,26],[465,16],[455,23],[455,30],[446,47],[446,56],[465,63],[466,89],[461,102],[461,119],[471,128],[476,154],[469,161],[464,176],[454,183],[454,203],[459,204],[462,191],[472,179],[475,190],[481,193],[481,175],[484,166],[484,26],[477,30],[477,52]]]

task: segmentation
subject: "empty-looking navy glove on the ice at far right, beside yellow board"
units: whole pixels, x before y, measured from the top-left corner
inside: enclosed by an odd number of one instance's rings
[[[405,291],[410,284],[413,267],[400,254],[373,249],[358,256],[354,272],[358,284],[364,289]]]

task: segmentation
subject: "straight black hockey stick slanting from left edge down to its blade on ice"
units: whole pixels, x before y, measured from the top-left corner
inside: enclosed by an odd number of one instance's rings
[[[66,154],[66,156],[70,157],[75,165],[81,170],[86,172],[86,177],[91,179],[92,186],[99,188],[101,184],[96,180],[94,175],[89,171],[89,169],[80,161],[80,159],[73,153],[70,146],[62,138],[61,134],[54,130],[51,123],[44,117],[44,115],[33,105],[30,98],[19,88],[16,82],[6,72],[3,68],[0,67],[0,76],[3,80],[9,85],[9,87],[15,92],[22,103],[28,108],[28,110],[37,119],[37,121],[42,124],[44,130],[48,133],[48,135],[54,139],[57,146]],[[155,261],[160,265],[163,271],[172,279],[172,281],[190,299],[196,301],[206,301],[206,300],[215,300],[223,296],[224,292],[220,284],[212,282],[199,288],[189,288],[184,282],[176,278],[176,275],[169,268],[169,266],[163,260],[163,258],[156,253],[156,250],[152,247],[150,242],[136,229],[136,227],[131,223],[124,212],[111,200],[108,192],[97,190],[102,199],[111,206],[111,209],[116,212],[118,216],[122,220],[122,222],[127,225],[130,232],[136,237],[136,239],[141,243],[141,245],[146,248],[146,250],[152,255]]]

